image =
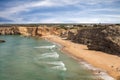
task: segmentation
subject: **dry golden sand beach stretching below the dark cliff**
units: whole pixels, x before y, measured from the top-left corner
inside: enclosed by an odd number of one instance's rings
[[[116,55],[110,55],[100,51],[88,50],[86,45],[73,43],[58,36],[49,35],[43,36],[43,38],[62,45],[63,51],[74,56],[78,60],[82,59],[92,66],[104,70],[104,72],[108,73],[115,79],[120,76],[120,57]],[[100,72],[101,71],[98,73]]]

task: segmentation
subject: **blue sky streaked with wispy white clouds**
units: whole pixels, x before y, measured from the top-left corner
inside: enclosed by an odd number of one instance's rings
[[[120,0],[0,0],[0,23],[120,23]]]

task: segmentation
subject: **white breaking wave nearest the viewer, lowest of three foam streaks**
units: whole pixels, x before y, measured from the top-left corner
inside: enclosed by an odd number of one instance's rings
[[[55,66],[51,67],[52,69],[63,70],[66,71],[67,68],[62,61],[55,61],[55,62],[47,62],[47,64],[53,64]]]

